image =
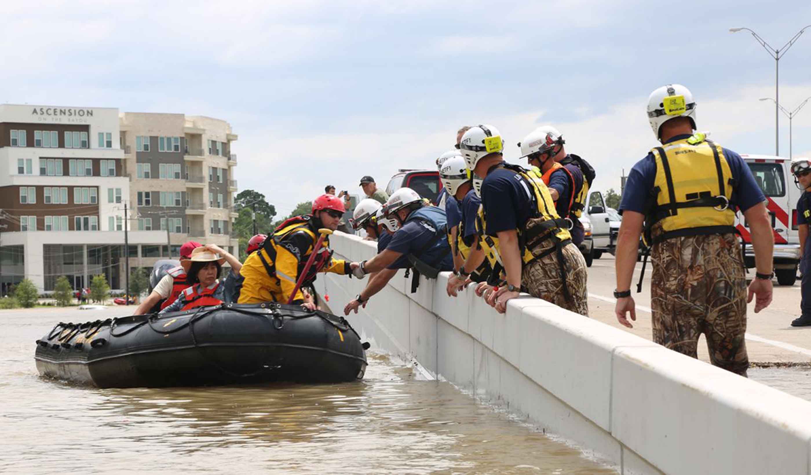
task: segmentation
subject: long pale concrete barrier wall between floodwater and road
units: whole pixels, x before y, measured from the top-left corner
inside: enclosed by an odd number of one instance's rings
[[[337,255],[371,259],[374,242],[335,233]],[[350,323],[373,348],[414,362],[503,405],[622,473],[806,473],[811,403],[685,357],[543,300],[500,315],[472,287],[448,297],[448,272],[397,273]],[[322,274],[315,288],[343,306],[367,284]]]

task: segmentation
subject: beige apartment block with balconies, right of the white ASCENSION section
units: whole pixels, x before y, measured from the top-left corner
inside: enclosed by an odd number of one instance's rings
[[[217,244],[235,252],[230,238],[237,182],[238,139],[228,122],[182,113],[122,113],[120,143],[130,177],[129,200],[137,220],[133,229],[169,231],[169,249],[188,240]],[[166,241],[166,239],[164,239]],[[134,264],[152,267],[165,255],[139,255]]]

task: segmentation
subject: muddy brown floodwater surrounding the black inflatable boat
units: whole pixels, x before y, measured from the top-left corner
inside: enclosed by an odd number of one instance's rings
[[[54,323],[120,315],[0,312],[0,472],[616,473],[382,354],[344,384],[93,389],[39,377],[34,340]]]

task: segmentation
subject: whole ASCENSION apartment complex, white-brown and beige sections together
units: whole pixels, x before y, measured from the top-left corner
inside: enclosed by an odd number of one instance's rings
[[[123,289],[125,226],[130,267],[177,259],[189,238],[236,250],[236,139],[212,118],[0,105],[0,290],[101,273]]]

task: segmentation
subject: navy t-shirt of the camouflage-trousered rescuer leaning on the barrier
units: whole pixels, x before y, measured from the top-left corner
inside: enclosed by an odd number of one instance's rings
[[[515,172],[498,168],[482,182],[482,203],[487,217],[485,229],[490,236],[499,231],[518,229],[532,216],[532,193]]]

